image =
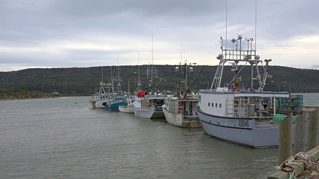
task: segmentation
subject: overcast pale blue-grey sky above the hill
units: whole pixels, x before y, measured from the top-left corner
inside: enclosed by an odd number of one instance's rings
[[[228,0],[228,47],[238,33],[270,65],[319,69],[318,7],[257,0],[255,34],[255,0]],[[226,0],[0,0],[0,72],[152,63],[152,34],[154,64],[178,64],[182,49],[218,65]]]

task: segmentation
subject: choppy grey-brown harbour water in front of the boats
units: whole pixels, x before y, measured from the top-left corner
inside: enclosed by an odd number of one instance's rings
[[[0,178],[252,179],[277,164],[278,148],[89,109],[89,98],[0,101]]]

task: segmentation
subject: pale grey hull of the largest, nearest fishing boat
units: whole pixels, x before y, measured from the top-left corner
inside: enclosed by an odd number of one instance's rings
[[[278,124],[259,123],[250,118],[214,116],[203,112],[199,106],[196,106],[196,111],[204,131],[211,136],[253,148],[279,145]]]

